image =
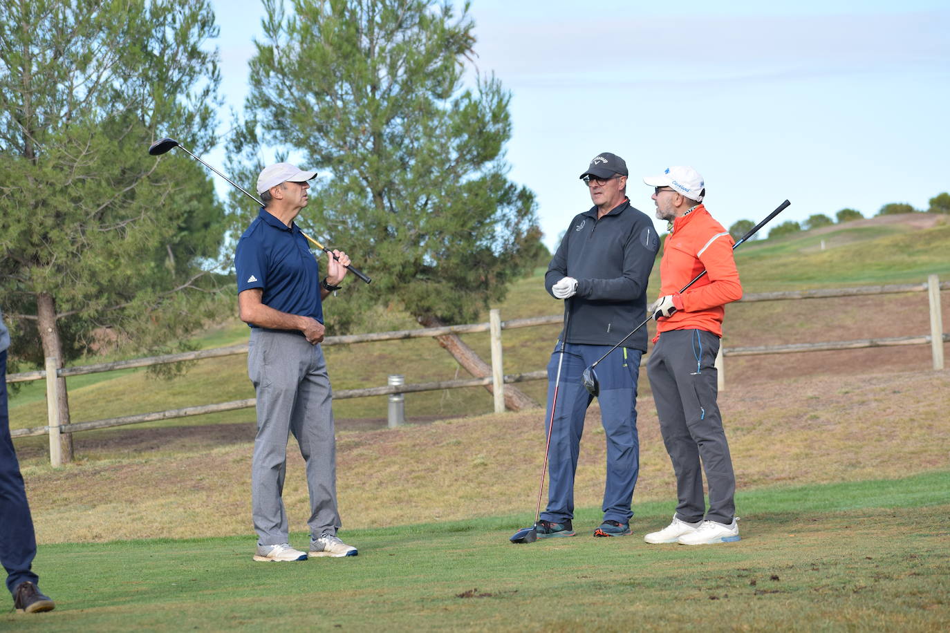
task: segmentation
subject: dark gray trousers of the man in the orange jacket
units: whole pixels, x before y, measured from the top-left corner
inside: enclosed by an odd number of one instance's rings
[[[702,329],[660,334],[647,361],[659,429],[676,474],[676,518],[731,523],[735,475],[716,404],[715,363],[719,337]],[[705,512],[703,473],[709,485]]]

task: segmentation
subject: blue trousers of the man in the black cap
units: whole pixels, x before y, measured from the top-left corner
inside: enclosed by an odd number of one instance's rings
[[[578,470],[580,437],[587,407],[594,398],[580,382],[584,369],[610,349],[610,345],[567,344],[561,365],[558,408],[551,432],[548,456],[548,502],[541,514],[545,521],[561,523],[574,518],[574,475]],[[637,380],[640,358],[637,349],[618,347],[596,368],[600,382],[600,423],[607,442],[607,473],[604,483],[603,520],[628,523],[634,515],[631,501],[639,474],[640,445],[637,436]],[[551,400],[561,360],[561,344],[547,365],[547,413],[544,433],[551,419]]]

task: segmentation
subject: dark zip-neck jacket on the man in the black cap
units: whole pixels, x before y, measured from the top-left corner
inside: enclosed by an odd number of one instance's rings
[[[647,280],[659,249],[653,222],[629,199],[600,219],[597,214],[592,207],[574,216],[544,275],[548,293],[561,277],[578,280],[577,294],[567,300],[567,343],[617,344],[646,319]],[[647,328],[623,346],[646,351]]]

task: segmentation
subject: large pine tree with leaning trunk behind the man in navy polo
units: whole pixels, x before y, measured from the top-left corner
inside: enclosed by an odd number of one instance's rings
[[[333,303],[333,331],[392,302],[436,326],[501,301],[535,265],[541,233],[533,193],[506,177],[510,95],[494,76],[466,84],[467,7],[456,16],[433,0],[294,0],[289,16],[280,0],[264,5],[231,156],[244,157],[247,181],[263,145],[321,174],[297,223],[373,277]],[[456,358],[477,365],[451,339]]]

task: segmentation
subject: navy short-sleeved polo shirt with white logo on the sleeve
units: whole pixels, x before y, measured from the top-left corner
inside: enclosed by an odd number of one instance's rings
[[[237,241],[235,271],[237,292],[263,289],[265,306],[323,323],[320,269],[295,223],[288,227],[261,208]]]

